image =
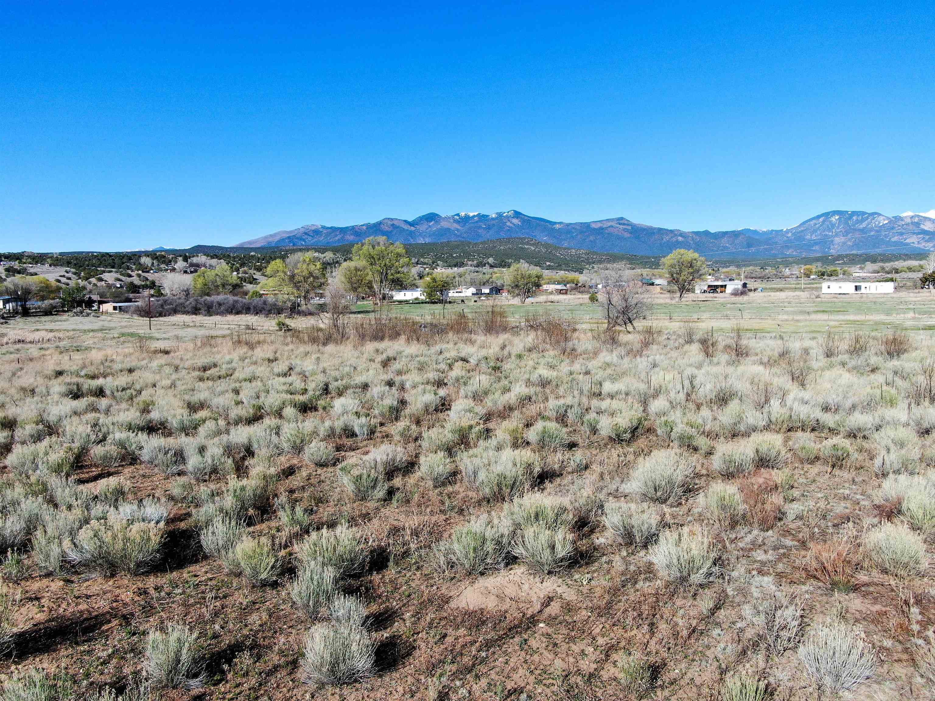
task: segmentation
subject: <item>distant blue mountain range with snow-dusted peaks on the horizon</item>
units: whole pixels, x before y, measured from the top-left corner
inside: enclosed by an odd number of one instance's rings
[[[243,248],[336,246],[387,236],[404,244],[439,241],[484,241],[526,236],[556,246],[664,255],[694,249],[719,258],[770,258],[793,255],[852,253],[870,250],[900,253],[935,250],[935,211],[905,212],[887,217],[879,212],[834,210],[788,229],[683,231],[631,222],[624,217],[597,222],[552,222],[510,209],[495,214],[429,212],[408,221],[381,219],[353,226],[307,224],[237,244]]]

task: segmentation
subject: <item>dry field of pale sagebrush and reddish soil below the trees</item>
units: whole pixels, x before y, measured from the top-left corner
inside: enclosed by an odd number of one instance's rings
[[[0,327],[2,698],[932,698],[935,304],[776,294]]]

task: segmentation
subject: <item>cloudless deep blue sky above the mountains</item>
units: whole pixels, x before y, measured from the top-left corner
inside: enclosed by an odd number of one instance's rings
[[[4,6],[0,250],[935,207],[930,1],[190,5]]]

